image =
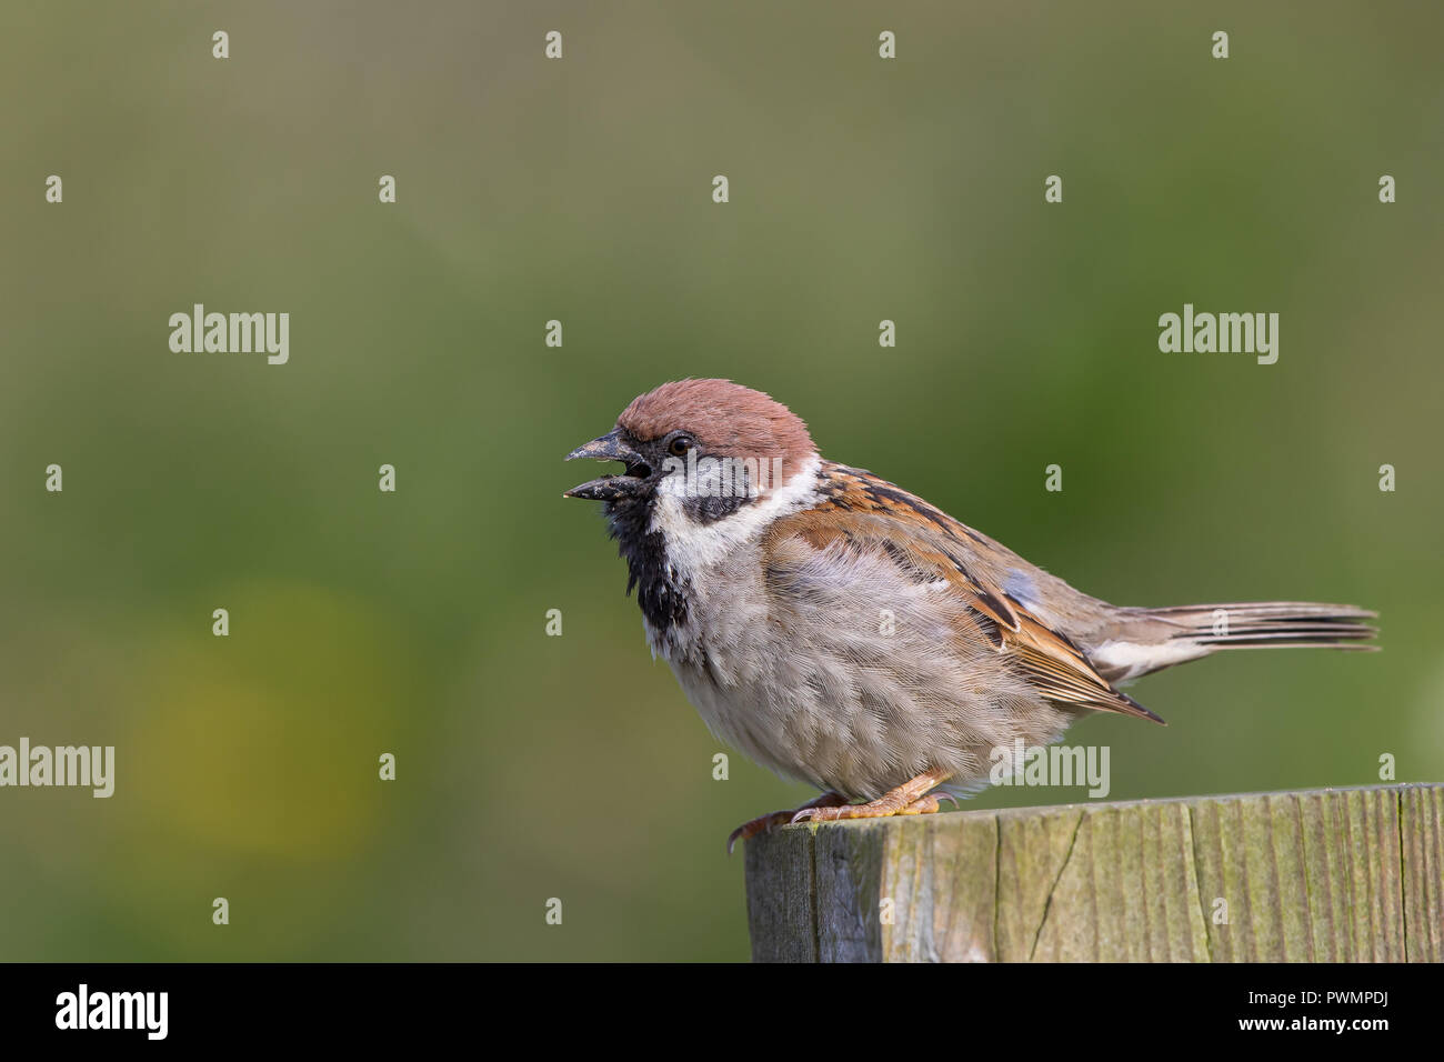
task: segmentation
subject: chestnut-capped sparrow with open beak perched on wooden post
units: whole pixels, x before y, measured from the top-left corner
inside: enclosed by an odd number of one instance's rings
[[[923,498],[822,458],[807,425],[729,380],[640,394],[566,459],[619,461],[602,501],[627,592],[712,733],[822,795],[738,826],[921,815],[995,748],[1074,720],[1162,722],[1119,686],[1220,649],[1360,644],[1376,613],[1261,601],[1112,605]],[[939,787],[944,789],[940,792]]]

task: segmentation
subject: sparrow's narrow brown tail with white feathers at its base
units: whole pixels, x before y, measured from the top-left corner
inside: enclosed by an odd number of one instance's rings
[[[1378,613],[1354,605],[1311,601],[1138,608],[1138,626],[1123,639],[1095,647],[1089,657],[1113,681],[1135,679],[1220,649],[1324,646],[1375,650],[1365,644],[1378,629],[1365,623]]]

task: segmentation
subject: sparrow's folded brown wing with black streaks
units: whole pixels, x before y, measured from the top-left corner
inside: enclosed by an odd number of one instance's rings
[[[777,520],[762,543],[768,584],[783,590],[803,565],[823,551],[887,558],[914,582],[943,581],[966,604],[973,630],[1018,673],[1057,704],[1121,712],[1162,722],[1119,692],[1089,663],[1067,634],[1056,630],[996,585],[976,564],[979,549],[995,543],[871,472],[830,465],[820,501]]]

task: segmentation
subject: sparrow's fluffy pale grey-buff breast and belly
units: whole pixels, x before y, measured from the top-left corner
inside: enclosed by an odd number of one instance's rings
[[[647,634],[718,738],[853,799],[934,769],[969,786],[988,779],[993,750],[1061,735],[1073,714],[991,643],[959,642],[943,588],[879,568],[783,598],[745,558],[693,575],[686,623]]]

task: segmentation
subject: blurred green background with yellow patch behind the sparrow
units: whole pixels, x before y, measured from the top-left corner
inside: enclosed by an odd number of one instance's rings
[[[1113,798],[1444,779],[1444,9],[1210,7],[6,4],[0,744],[118,767],[0,790],[0,957],[745,958],[723,838],[807,790],[712,779],[560,497],[682,376],[1112,601],[1382,611],[1134,686]],[[1161,354],[1184,302],[1278,364]]]

